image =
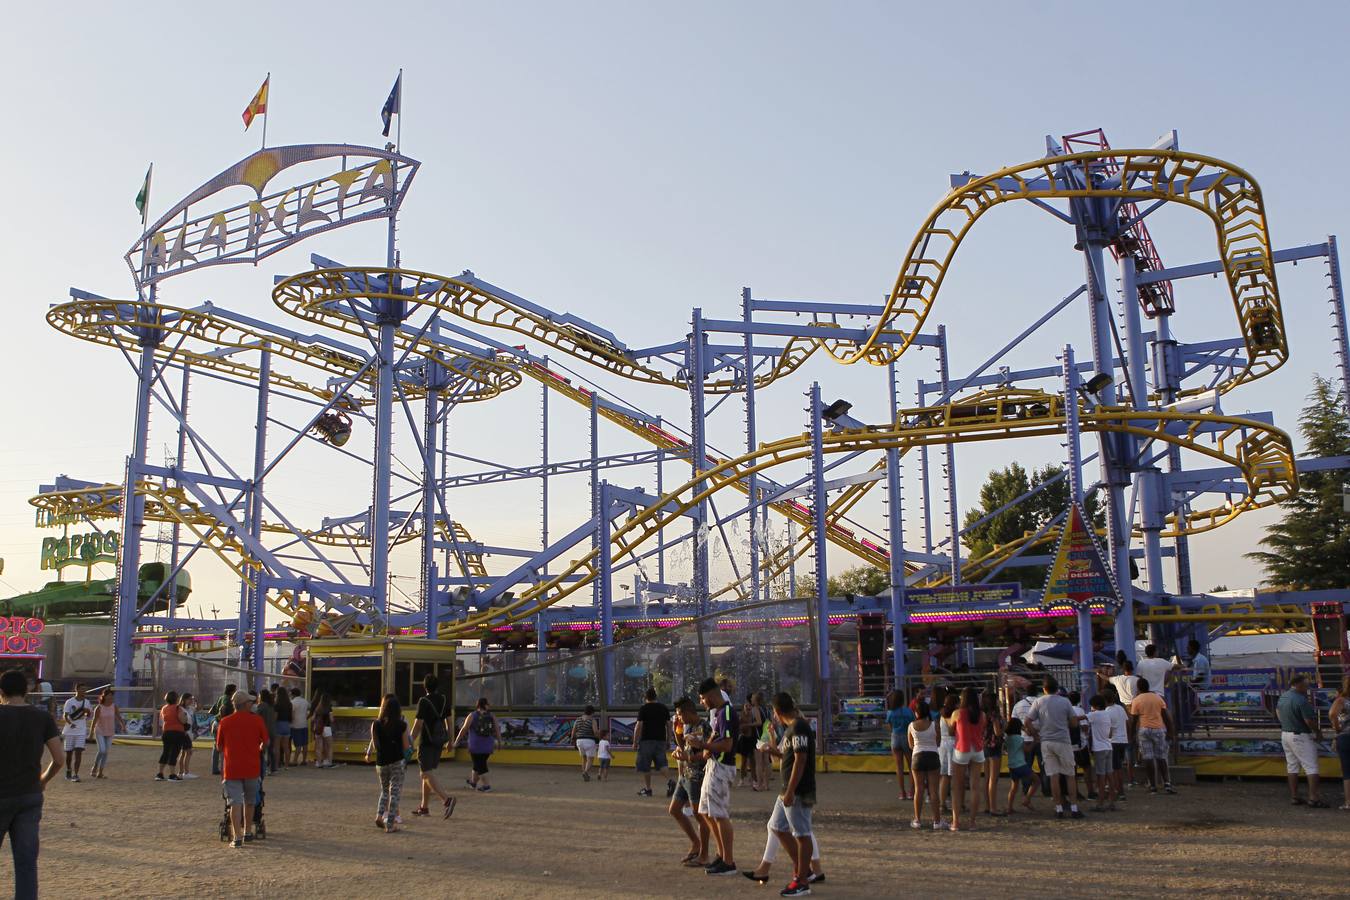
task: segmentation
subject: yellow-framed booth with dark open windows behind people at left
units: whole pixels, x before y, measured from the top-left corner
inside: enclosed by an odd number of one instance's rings
[[[333,757],[363,760],[370,723],[386,694],[398,698],[412,727],[423,679],[454,703],[455,641],[410,637],[316,640],[305,660],[305,696],[327,694],[333,707]],[[448,749],[448,748],[447,748]]]

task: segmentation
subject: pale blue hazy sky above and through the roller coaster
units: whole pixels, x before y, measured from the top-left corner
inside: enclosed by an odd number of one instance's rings
[[[270,146],[381,146],[379,109],[405,72],[402,152],[423,162],[400,219],[404,264],[464,269],[559,312],[599,322],[629,345],[682,340],[693,308],[730,318],[749,286],[767,298],[878,302],[948,175],[990,171],[1045,152],[1045,135],[1102,127],[1114,146],[1148,146],[1176,128],[1181,147],[1228,159],[1264,190],[1278,247],[1324,240],[1347,225],[1343,192],[1328,188],[1350,143],[1339,115],[1347,12],[1274,15],[1257,3],[802,4],[686,3],[294,3],[250,16],[207,16],[147,3],[138,15],[107,4],[23,4],[8,18],[0,58],[14,92],[0,166],[7,173],[0,254],[8,277],[0,385],[0,594],[34,590],[43,532],[28,498],[57,474],[117,480],[131,445],[134,374],[111,349],[65,337],[43,314],[72,286],[128,297],[122,256],[139,233],[132,200],[155,163],[151,219],[259,146],[240,111],[271,73]],[[1153,220],[1168,264],[1216,255],[1203,220],[1166,210]],[[952,370],[979,364],[1083,278],[1065,225],[1008,205],[963,246],[926,331],[946,325]],[[310,239],[258,269],[224,267],[165,283],[161,300],[202,300],[285,325],[273,275],[308,267],[310,252],[382,264],[382,225]],[[1226,398],[1224,410],[1272,410],[1295,429],[1314,372],[1332,374],[1326,269],[1281,267],[1292,348],[1274,375]],[[1183,340],[1237,333],[1222,282],[1179,286]],[[1007,362],[1046,366],[1065,343],[1085,355],[1087,309],[1076,304]],[[687,398],[606,379],[633,405],[684,428]],[[936,376],[932,352],[899,366],[903,398]],[[574,379],[575,381],[575,379]],[[880,370],[813,360],[760,395],[759,437],[799,433],[811,381],[886,416]],[[247,470],[252,395],[194,385],[193,422],[232,466]],[[278,403],[296,421],[304,407]],[[742,406],[729,401],[709,432],[744,444]],[[526,383],[491,403],[456,410],[456,452],[506,464],[540,457],[540,398]],[[301,420],[302,421],[302,420]],[[176,441],[151,420],[151,461]],[[554,459],[586,453],[585,410],[551,401]],[[285,440],[279,432],[273,441]],[[369,433],[358,433],[354,447]],[[412,439],[400,425],[396,456]],[[601,449],[640,449],[602,430]],[[406,452],[406,449],[405,449]],[[957,499],[976,502],[994,467],[1058,461],[1054,440],[961,447]],[[455,460],[452,471],[482,468]],[[618,470],[616,483],[653,488],[655,472]],[[682,480],[679,467],[667,484]],[[1091,479],[1089,479],[1091,480]],[[369,471],[305,447],[278,467],[269,497],[302,526],[370,503]],[[906,540],[921,544],[918,472],[905,467]],[[936,532],[945,497],[934,484]],[[554,536],[589,514],[586,484],[556,479]],[[882,491],[873,491],[880,494]],[[539,486],[458,491],[452,514],[475,538],[536,546]],[[1253,549],[1270,511],[1192,542],[1195,582],[1257,584]],[[884,530],[880,498],[860,507]],[[150,526],[147,533],[154,533]],[[714,573],[744,555],[718,549]],[[146,559],[154,557],[147,546]],[[394,556],[396,590],[416,592],[414,557]],[[687,553],[668,580],[683,580]],[[852,565],[832,553],[832,568]],[[510,565],[497,560],[497,571]],[[805,567],[803,567],[805,568]],[[193,611],[235,609],[217,563],[192,567]],[[96,578],[111,576],[111,567]],[[76,578],[76,571],[68,572]],[[1174,584],[1169,584],[1174,587]]]

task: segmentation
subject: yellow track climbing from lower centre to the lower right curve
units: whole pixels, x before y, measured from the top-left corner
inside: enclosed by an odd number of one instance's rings
[[[888,425],[832,432],[824,437],[824,451],[832,455],[907,449],[950,441],[1057,436],[1065,426],[1062,398],[1033,391],[1021,391],[1017,397],[986,398],[973,403],[953,401],[946,406],[906,410],[906,420],[914,422],[910,426]],[[1080,421],[1087,432],[1115,432],[1165,441],[1241,471],[1246,482],[1245,495],[1226,499],[1212,507],[1192,510],[1184,517],[1170,515],[1162,532],[1165,537],[1211,530],[1246,510],[1278,503],[1297,490],[1297,472],[1289,437],[1264,422],[1233,416],[1100,407],[1081,409]],[[1208,433],[1212,444],[1197,440],[1202,433]],[[718,490],[752,472],[801,461],[810,455],[809,436],[798,434],[761,444],[753,453],[726,460],[701,472],[617,528],[612,537],[610,552],[616,559],[633,553],[662,528],[674,524],[683,513]],[[585,557],[574,560],[566,569],[547,582],[531,586],[506,606],[443,625],[441,636],[470,636],[491,625],[533,615],[589,584],[597,573],[597,551],[591,551]]]

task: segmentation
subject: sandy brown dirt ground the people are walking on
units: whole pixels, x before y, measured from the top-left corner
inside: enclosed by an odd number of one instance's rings
[[[209,772],[208,753],[193,762]],[[786,854],[768,887],[680,868],[686,843],[666,815],[664,791],[636,796],[630,770],[585,784],[571,768],[502,766],[491,793],[470,795],[467,765],[443,765],[443,784],[460,797],[454,818],[408,815],[412,784],[406,830],[393,835],[374,827],[374,769],[292,770],[266,784],[267,839],[232,850],[217,837],[219,783],[154,783],[154,764],[153,749],[115,746],[107,780],[51,783],[42,896],[767,897],[788,874]],[[1339,788],[1326,785],[1324,799],[1339,806]],[[1291,807],[1280,783],[1206,783],[1174,797],[1141,789],[1126,811],[1084,822],[1057,822],[1038,800],[1035,814],[984,819],[969,834],[911,831],[895,796],[883,776],[819,777],[828,877],[815,896],[1350,891],[1350,814]],[[734,795],[741,868],[760,858],[772,799],[748,788]],[[8,895],[14,872],[8,851],[0,855],[0,895]]]

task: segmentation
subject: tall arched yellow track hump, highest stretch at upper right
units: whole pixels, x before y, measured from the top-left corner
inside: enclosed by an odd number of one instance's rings
[[[1081,182],[1081,171],[1104,163],[1119,174],[1103,184]],[[865,359],[884,366],[903,354],[927,318],[961,240],[987,210],[1010,200],[1104,198],[1166,201],[1203,212],[1219,239],[1223,273],[1238,313],[1247,362],[1219,393],[1278,368],[1289,355],[1270,235],[1261,189],[1246,171],[1222,159],[1161,150],[1094,150],[1000,169],[953,189],[933,208],[914,236],[886,308],[861,343],[830,341],[841,363]],[[887,337],[890,343],[882,343]],[[1181,395],[1207,389],[1183,391]]]

